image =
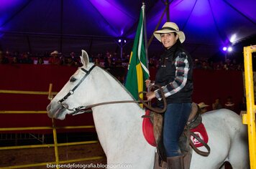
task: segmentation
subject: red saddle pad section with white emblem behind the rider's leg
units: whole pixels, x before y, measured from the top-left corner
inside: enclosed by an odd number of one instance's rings
[[[201,138],[201,140],[204,140],[205,143],[208,143],[209,137],[203,123],[200,123],[200,125],[191,129],[191,132],[195,133],[198,137]],[[191,135],[191,141],[193,142],[193,145],[196,146],[196,148],[203,146],[203,144],[196,140],[193,135]]]

